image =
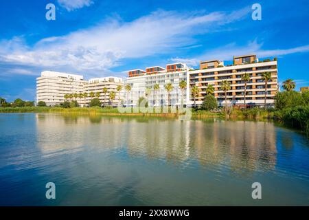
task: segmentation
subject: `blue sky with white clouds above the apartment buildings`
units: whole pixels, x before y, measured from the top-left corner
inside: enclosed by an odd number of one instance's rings
[[[45,19],[47,3],[56,21]],[[253,21],[253,3],[262,21]],[[43,70],[126,76],[128,69],[233,55],[277,57],[279,81],[309,85],[309,2],[10,0],[0,6],[0,96],[35,100]]]

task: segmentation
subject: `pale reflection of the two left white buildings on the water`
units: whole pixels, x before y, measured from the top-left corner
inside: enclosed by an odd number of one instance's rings
[[[44,155],[119,148],[124,146],[121,122],[98,115],[36,114],[37,145]]]

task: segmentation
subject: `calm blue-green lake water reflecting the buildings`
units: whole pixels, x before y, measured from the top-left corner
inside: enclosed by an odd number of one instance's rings
[[[5,113],[0,131],[2,206],[309,205],[309,140],[271,122]]]

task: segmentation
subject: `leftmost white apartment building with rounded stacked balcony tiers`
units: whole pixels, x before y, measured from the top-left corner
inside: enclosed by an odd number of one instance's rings
[[[65,94],[83,92],[86,83],[81,75],[44,71],[36,78],[37,102],[44,101],[47,106],[62,104]]]

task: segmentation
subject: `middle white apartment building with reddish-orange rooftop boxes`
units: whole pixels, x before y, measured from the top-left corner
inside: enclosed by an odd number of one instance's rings
[[[131,90],[126,92],[127,106],[136,106],[139,98],[147,97],[150,106],[165,105],[168,102],[168,92],[165,85],[171,83],[174,89],[170,92],[170,104],[180,105],[181,100],[185,104],[187,91],[181,92],[179,82],[185,80],[187,89],[189,81],[187,80],[187,71],[191,69],[184,63],[172,63],[163,67],[147,67],[146,71],[135,69],[128,72],[128,78],[125,85],[130,85]],[[133,74],[136,73],[137,74]],[[159,85],[159,89],[155,89]],[[185,90],[187,90],[185,89]],[[183,96],[182,96],[183,94]]]

